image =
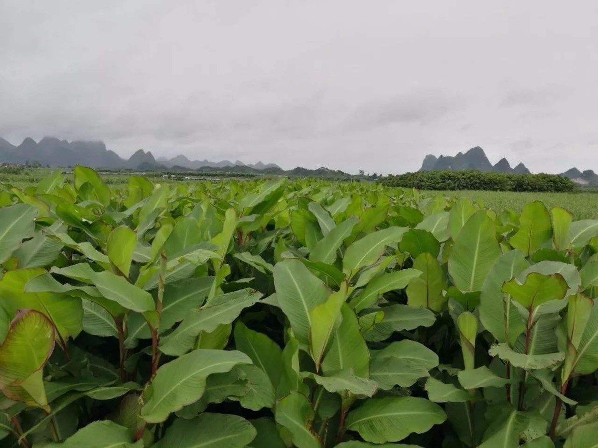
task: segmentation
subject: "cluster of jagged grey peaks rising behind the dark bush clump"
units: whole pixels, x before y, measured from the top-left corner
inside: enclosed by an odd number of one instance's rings
[[[435,155],[428,154],[423,159],[422,168],[420,168],[420,171],[442,170],[478,170],[507,174],[529,174],[530,172],[522,163],[518,164],[515,168],[511,168],[511,164],[505,158],[492,165],[480,146],[469,149],[465,154],[459,152],[454,156],[441,155],[440,157],[436,157]]]

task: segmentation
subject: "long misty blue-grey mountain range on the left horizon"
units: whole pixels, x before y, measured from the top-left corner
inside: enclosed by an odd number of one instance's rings
[[[68,142],[68,140],[60,140],[56,137],[44,137],[39,142],[35,142],[32,138],[27,137],[19,146],[15,146],[0,137],[0,162],[26,163],[28,161],[35,161],[52,167],[86,165],[93,168],[130,168],[132,170],[173,167],[189,170],[197,170],[201,167],[249,167],[255,170],[280,169],[276,164],[264,164],[263,162],[246,165],[239,160],[234,163],[228,160],[219,162],[192,161],[182,154],[171,159],[161,157],[156,160],[151,152],[145,152],[143,149],[139,149],[128,159],[123,159],[114,151],[109,151],[103,142],[86,142],[83,140]]]

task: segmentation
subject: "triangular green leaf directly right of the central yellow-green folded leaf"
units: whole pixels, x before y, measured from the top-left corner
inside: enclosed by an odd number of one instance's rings
[[[341,315],[343,320],[334,332],[322,370],[326,375],[332,375],[340,370],[353,369],[355,376],[368,378],[370,352],[359,332],[357,317],[346,304],[341,307]]]

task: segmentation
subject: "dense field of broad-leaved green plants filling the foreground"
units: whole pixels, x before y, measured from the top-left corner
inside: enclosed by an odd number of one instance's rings
[[[598,220],[152,181],[0,190],[0,446],[597,446]]]

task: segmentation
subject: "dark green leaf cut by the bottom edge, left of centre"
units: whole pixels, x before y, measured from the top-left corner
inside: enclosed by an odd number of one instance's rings
[[[191,419],[176,419],[155,448],[243,448],[254,440],[257,431],[237,415],[211,412]]]

